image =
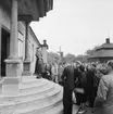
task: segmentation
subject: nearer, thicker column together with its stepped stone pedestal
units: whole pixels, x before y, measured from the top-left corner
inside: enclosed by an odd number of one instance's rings
[[[17,0],[12,0],[11,9],[11,37],[10,37],[10,56],[5,60],[7,77],[2,79],[2,94],[12,96],[20,91],[21,66],[18,59],[17,42]]]

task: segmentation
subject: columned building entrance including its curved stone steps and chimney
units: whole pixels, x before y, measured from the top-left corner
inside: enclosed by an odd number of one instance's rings
[[[0,51],[3,55],[0,55],[0,64],[3,63],[4,73],[0,84],[2,114],[63,112],[62,87],[30,75],[34,72],[37,49],[40,54],[43,53],[42,58],[47,62],[45,52],[48,46],[46,40],[40,45],[29,24],[32,21],[39,21],[50,10],[52,0],[0,0]]]

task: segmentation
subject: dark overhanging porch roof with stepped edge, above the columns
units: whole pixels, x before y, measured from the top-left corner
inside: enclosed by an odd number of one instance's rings
[[[11,10],[12,0],[0,0],[8,10]],[[53,0],[17,0],[18,1],[18,20],[28,16],[32,21],[39,21],[46,16],[47,12],[52,10]]]

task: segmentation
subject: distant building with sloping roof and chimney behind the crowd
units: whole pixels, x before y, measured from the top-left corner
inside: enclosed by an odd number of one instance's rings
[[[106,62],[113,60],[113,43],[110,42],[110,38],[105,39],[105,43],[101,45],[89,55],[89,61]]]

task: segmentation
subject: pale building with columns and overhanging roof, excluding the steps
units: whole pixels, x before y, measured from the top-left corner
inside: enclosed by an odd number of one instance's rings
[[[0,0],[0,74],[34,72],[40,43],[29,27],[52,10],[53,0]]]

